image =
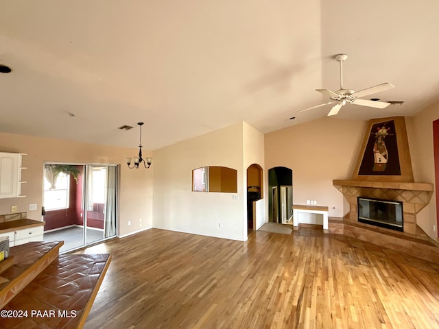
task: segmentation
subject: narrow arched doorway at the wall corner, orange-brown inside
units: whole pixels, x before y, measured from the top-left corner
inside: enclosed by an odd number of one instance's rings
[[[263,198],[263,170],[259,164],[251,164],[247,168],[247,229],[251,231],[256,226],[255,204]]]

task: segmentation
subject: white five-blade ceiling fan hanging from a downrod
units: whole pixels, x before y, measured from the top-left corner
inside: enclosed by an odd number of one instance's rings
[[[328,116],[331,116],[337,114],[338,111],[340,111],[340,108],[346,105],[346,103],[351,103],[354,105],[361,105],[361,106],[369,106],[370,108],[385,108],[386,106],[389,106],[391,104],[385,101],[359,98],[394,88],[394,86],[392,84],[389,84],[388,82],[359,91],[343,88],[343,62],[347,58],[348,56],[346,55],[346,53],[340,53],[337,56],[335,56],[335,60],[340,62],[340,90],[334,92],[328,89],[316,89],[316,91],[318,91],[319,93],[322,93],[325,96],[329,96],[330,101],[327,101],[327,103],[323,103],[317,106],[312,106],[311,108],[305,108],[305,110],[300,110],[296,113],[312,110],[313,108],[320,108],[320,106],[335,104],[328,113]]]

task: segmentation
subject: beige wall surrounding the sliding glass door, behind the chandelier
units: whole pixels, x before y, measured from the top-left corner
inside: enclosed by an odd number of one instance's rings
[[[27,184],[23,184],[22,188],[26,197],[0,199],[0,214],[10,213],[10,207],[16,205],[20,212],[27,211],[29,219],[41,219],[44,162],[122,164],[118,234],[130,234],[152,226],[154,164],[146,170],[128,169],[124,163],[126,156],[136,154],[137,149],[0,133],[0,151],[27,154],[23,157],[23,167],[27,167],[23,170],[23,180]],[[148,151],[143,153],[152,156]],[[38,210],[29,211],[29,204],[37,204]],[[128,221],[131,221],[131,226],[128,226]]]

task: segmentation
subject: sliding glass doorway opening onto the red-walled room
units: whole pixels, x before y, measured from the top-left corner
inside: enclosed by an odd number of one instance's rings
[[[64,241],[60,252],[91,245],[117,234],[117,166],[44,166],[44,241]]]

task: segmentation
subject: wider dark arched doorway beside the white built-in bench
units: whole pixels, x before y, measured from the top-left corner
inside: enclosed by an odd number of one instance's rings
[[[287,167],[268,170],[268,221],[293,224],[293,171]]]

